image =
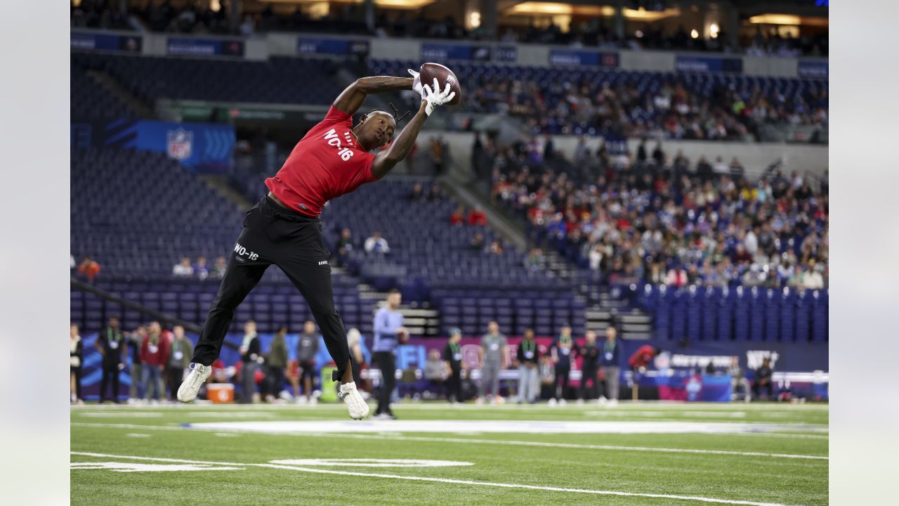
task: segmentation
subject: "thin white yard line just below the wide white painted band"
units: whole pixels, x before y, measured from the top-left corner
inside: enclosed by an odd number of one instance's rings
[[[72,425],[82,427],[102,427],[115,429],[162,429],[162,430],[205,430],[191,427],[167,427],[167,426],[148,426],[148,425],[129,425],[129,424],[104,424],[104,423],[73,423]],[[239,433],[241,431],[231,432],[230,434]],[[218,434],[223,433],[218,430]],[[243,432],[249,434],[268,434],[281,435],[282,432]],[[503,440],[503,439],[474,439],[474,438],[433,438],[423,436],[395,436],[395,435],[377,435],[377,434],[334,434],[323,432],[291,432],[290,436],[306,436],[312,438],[353,438],[353,439],[379,439],[379,440],[395,440],[395,441],[422,441],[434,443],[477,443],[483,445],[501,445],[512,447],[563,447],[576,449],[597,449],[597,450],[613,450],[613,451],[636,451],[636,452],[658,452],[658,453],[688,453],[688,454],[706,454],[706,455],[726,455],[726,456],[763,456],[771,458],[799,458],[808,460],[829,460],[828,456],[817,455],[795,455],[781,453],[764,453],[764,452],[738,452],[727,450],[708,450],[695,448],[664,448],[664,447],[625,447],[619,445],[581,445],[575,443],[555,443],[546,441],[521,441],[521,440]]]

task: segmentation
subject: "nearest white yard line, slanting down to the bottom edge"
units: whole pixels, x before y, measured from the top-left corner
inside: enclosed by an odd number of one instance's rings
[[[732,499],[716,499],[714,497],[700,497],[695,495],[675,495],[665,493],[643,493],[643,492],[619,492],[609,490],[589,490],[575,488],[549,487],[540,485],[526,485],[521,483],[493,483],[493,482],[475,482],[471,480],[454,480],[450,478],[435,478],[430,476],[404,476],[401,474],[381,474],[381,473],[358,473],[352,471],[336,471],[333,469],[312,469],[308,467],[298,467],[294,465],[276,465],[276,464],[238,464],[233,462],[209,462],[201,460],[183,460],[180,458],[159,458],[151,456],[126,456],[126,455],[108,455],[99,453],[71,452],[71,455],[77,456],[94,456],[103,458],[124,458],[129,460],[150,460],[155,462],[178,462],[182,464],[206,464],[206,465],[246,465],[255,467],[271,467],[274,469],[285,469],[289,471],[300,471],[303,473],[316,474],[339,474],[343,476],[361,476],[366,478],[386,478],[392,480],[408,480],[415,482],[432,482],[432,483],[455,483],[463,485],[476,485],[497,488],[525,489],[525,490],[542,490],[547,492],[571,492],[571,493],[589,493],[595,495],[614,495],[620,497],[646,497],[653,499],[674,499],[680,501],[697,501],[711,502],[715,504],[739,504],[742,506],[785,506],[778,502],[756,502],[756,501],[739,501]]]

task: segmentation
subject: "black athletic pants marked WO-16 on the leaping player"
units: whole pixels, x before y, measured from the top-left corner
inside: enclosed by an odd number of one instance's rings
[[[340,313],[334,308],[330,251],[322,237],[322,222],[293,212],[264,196],[246,212],[243,231],[228,258],[225,277],[193,350],[193,362],[209,366],[218,358],[237,306],[262,279],[265,269],[278,266],[306,299],[322,330],[338,381],[350,360]]]

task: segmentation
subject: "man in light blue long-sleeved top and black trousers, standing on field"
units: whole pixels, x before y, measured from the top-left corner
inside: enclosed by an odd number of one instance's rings
[[[375,416],[380,419],[396,420],[390,409],[390,397],[396,386],[396,346],[409,339],[409,332],[403,326],[403,313],[399,304],[403,296],[399,290],[387,293],[387,304],[375,313],[374,362],[381,372],[381,386],[378,391],[378,409]]]

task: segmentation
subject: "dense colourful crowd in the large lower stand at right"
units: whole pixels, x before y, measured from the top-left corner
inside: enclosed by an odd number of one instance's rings
[[[482,159],[493,163],[494,199],[527,217],[530,239],[602,283],[827,285],[826,173],[770,167],[751,180],[735,158],[669,160],[661,146],[619,169],[603,148],[578,156],[583,180],[529,158],[524,143]]]

